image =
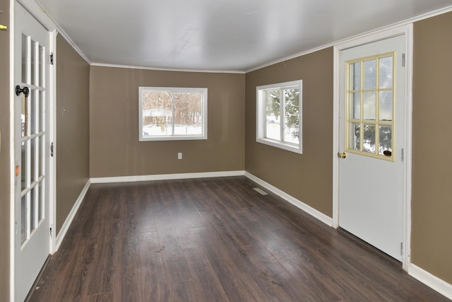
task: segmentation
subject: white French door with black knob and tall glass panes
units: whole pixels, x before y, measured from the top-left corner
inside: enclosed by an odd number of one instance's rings
[[[14,297],[23,301],[50,252],[50,34],[18,3],[15,18]]]

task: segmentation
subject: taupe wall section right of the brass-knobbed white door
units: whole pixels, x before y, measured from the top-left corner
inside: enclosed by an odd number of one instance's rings
[[[452,284],[452,13],[414,33],[412,262]]]

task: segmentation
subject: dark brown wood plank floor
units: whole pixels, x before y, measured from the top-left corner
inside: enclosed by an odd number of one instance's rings
[[[30,301],[448,301],[244,177],[91,185]]]

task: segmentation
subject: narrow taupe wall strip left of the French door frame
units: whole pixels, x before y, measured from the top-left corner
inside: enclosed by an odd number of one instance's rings
[[[0,0],[0,24],[9,26],[9,1]],[[10,211],[10,144],[9,144],[9,31],[0,31],[0,301],[9,299],[9,211]]]

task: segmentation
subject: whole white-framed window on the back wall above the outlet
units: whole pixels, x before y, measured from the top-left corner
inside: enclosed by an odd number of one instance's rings
[[[139,87],[139,140],[207,139],[207,88]]]

